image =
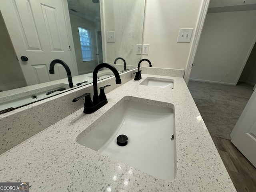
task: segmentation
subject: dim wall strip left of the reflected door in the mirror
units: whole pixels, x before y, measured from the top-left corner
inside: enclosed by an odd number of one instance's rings
[[[1,13],[0,29],[0,90],[27,86]]]

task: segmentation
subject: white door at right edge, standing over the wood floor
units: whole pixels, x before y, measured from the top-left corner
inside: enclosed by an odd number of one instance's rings
[[[256,91],[246,104],[234,130],[231,142],[256,167]]]

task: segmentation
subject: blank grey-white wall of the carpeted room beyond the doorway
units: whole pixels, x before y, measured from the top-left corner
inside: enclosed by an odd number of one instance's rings
[[[256,10],[207,14],[190,79],[236,84],[255,36]]]

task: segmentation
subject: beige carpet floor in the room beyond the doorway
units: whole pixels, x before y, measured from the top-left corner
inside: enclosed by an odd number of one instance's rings
[[[211,136],[230,140],[238,118],[252,95],[246,83],[224,85],[189,81],[188,89]]]

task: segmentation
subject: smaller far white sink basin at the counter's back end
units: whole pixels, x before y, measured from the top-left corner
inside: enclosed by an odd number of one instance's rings
[[[173,80],[164,78],[147,77],[140,85],[173,89]]]

